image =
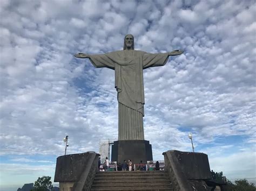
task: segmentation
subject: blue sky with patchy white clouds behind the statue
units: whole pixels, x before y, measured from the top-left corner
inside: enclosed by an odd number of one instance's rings
[[[114,71],[73,54],[183,49],[144,70],[145,139],[208,154],[228,179],[256,177],[255,1],[2,0],[0,188],[54,176],[56,158],[117,139]],[[12,187],[12,189],[11,189]]]

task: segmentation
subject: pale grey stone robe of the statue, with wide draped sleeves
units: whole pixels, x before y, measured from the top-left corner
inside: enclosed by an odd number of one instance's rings
[[[114,69],[118,100],[118,140],[144,140],[143,69],[163,66],[168,53],[150,54],[143,51],[115,51],[90,55],[97,68]]]

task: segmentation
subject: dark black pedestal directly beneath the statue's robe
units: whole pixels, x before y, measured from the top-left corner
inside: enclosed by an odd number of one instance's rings
[[[121,164],[124,160],[131,160],[133,164],[141,160],[146,163],[153,160],[151,144],[149,140],[118,140],[112,145],[111,160]]]

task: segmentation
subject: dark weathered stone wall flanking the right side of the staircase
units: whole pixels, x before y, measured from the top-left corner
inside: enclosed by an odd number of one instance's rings
[[[206,190],[205,180],[212,178],[207,154],[171,150],[163,153],[165,168],[175,190]]]

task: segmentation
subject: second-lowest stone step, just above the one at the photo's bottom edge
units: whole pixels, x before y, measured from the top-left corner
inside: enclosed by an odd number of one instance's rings
[[[131,185],[133,187],[157,187],[157,186],[171,186],[170,182],[93,182],[92,188],[97,187],[120,187],[122,188],[124,185]]]

